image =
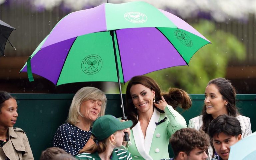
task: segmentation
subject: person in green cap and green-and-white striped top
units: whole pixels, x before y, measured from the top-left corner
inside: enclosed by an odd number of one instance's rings
[[[122,146],[123,129],[132,126],[132,121],[120,122],[112,115],[104,115],[93,123],[91,138],[95,144],[82,149],[76,159],[79,160],[131,160],[131,153],[119,149]]]

